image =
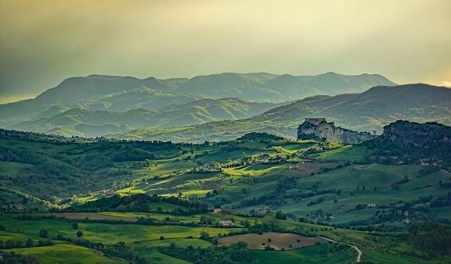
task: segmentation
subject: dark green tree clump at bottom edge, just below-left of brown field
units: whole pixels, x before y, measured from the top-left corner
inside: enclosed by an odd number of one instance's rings
[[[250,263],[254,258],[247,250],[245,242],[238,242],[230,246],[212,246],[206,249],[188,246],[186,249],[175,247],[171,244],[168,248],[159,251],[174,258],[181,258],[192,263],[232,264]]]

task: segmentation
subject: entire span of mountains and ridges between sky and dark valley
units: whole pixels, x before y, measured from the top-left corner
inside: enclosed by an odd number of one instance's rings
[[[295,138],[296,127],[312,117],[370,132],[399,119],[451,125],[451,89],[395,85],[369,74],[89,75],[64,80],[35,99],[0,105],[0,127],[6,129],[193,142],[253,131]]]

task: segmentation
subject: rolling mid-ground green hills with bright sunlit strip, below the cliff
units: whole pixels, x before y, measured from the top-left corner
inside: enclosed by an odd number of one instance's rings
[[[427,130],[443,140],[446,140],[443,133],[449,133],[449,127],[444,125],[416,125],[419,132]],[[412,128],[408,125],[397,122],[393,126],[397,127],[398,134],[400,131],[407,133],[400,137],[410,137]],[[336,148],[339,145],[321,144],[326,151],[318,152],[314,149],[319,143],[289,141],[263,133],[251,133],[235,141],[213,145],[75,144],[45,138],[36,141],[35,137],[23,137],[26,134],[2,133],[1,183],[19,191],[16,196],[30,194],[55,205],[63,204],[63,199],[68,203],[96,199],[103,195],[102,189],[116,189],[118,194],[204,197],[202,200],[209,206],[242,213],[266,206],[296,218],[358,227],[366,222],[372,225],[385,222],[375,218],[376,210],[367,206],[373,203],[381,208],[408,208],[416,212],[411,220],[422,220],[424,210],[417,207],[426,202],[419,197],[434,194],[428,200],[431,202],[429,210],[435,212],[431,215],[435,215],[435,220],[447,217],[440,210],[447,206],[440,197],[446,197],[451,187],[447,142],[442,142],[445,145],[441,149],[431,148],[428,156],[435,157],[435,164],[431,160],[431,167],[424,167],[419,159],[424,157],[421,156],[422,145],[409,145],[410,156],[419,158],[393,160],[390,157],[397,153],[390,151],[400,146],[390,141],[381,143],[380,138],[339,148]],[[431,135],[431,142],[437,140]],[[434,151],[440,155],[433,155]],[[384,153],[394,162],[378,158]],[[68,199],[71,195],[78,198]],[[39,201],[36,199],[29,200]],[[398,219],[397,216],[387,218]],[[393,228],[403,226],[398,224]]]

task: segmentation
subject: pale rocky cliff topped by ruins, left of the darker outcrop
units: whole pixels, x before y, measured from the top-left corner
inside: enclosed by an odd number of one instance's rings
[[[356,132],[342,127],[335,127],[334,122],[326,118],[306,118],[297,127],[297,139],[314,139],[328,142],[358,143],[373,139],[368,132]]]

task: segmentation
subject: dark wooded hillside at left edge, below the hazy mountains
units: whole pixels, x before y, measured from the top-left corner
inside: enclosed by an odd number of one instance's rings
[[[42,140],[37,140],[43,137]],[[5,184],[52,201],[54,196],[69,196],[98,191],[114,181],[131,179],[131,168],[118,162],[141,165],[144,161],[173,158],[188,146],[171,142],[85,142],[80,144],[47,140],[44,135],[0,131],[0,138],[18,144],[0,144],[0,161],[32,164],[20,174],[11,175]],[[34,148],[35,142],[47,148]],[[56,145],[59,151],[54,151]]]

